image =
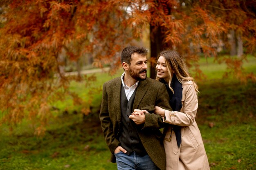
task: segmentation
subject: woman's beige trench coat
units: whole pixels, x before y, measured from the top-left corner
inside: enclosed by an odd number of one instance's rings
[[[182,84],[182,108],[180,112],[164,110],[164,122],[182,126],[182,141],[177,147],[171,126],[164,130],[166,170],[210,170],[201,133],[195,122],[198,98],[192,81]]]

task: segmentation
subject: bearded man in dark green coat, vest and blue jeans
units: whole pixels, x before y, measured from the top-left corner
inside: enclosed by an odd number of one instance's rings
[[[164,84],[147,77],[147,51],[126,47],[121,54],[124,73],[103,84],[101,127],[118,170],[165,169],[162,117],[155,106],[171,108]],[[135,109],[149,114],[131,115]],[[151,114],[150,114],[151,113]]]

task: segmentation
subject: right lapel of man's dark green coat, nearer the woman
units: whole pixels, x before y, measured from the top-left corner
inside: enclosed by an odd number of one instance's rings
[[[134,103],[133,103],[133,110],[134,109],[138,109],[138,106],[141,102],[141,100],[143,99],[144,95],[147,92],[147,88],[145,88],[147,84],[147,81],[139,81],[138,87],[137,87],[137,91],[136,91],[136,95],[135,95],[135,99],[134,99]],[[140,109],[140,108],[139,108]]]

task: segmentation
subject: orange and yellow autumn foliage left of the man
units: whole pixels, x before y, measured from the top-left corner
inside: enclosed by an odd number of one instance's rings
[[[63,75],[63,51],[70,60],[91,53],[94,65],[103,67],[132,37],[125,10],[116,1],[13,0],[2,9],[1,123],[29,118],[40,122],[38,134],[45,130],[54,101],[71,95],[83,104],[68,90],[72,77]],[[89,104],[83,106],[85,114]]]

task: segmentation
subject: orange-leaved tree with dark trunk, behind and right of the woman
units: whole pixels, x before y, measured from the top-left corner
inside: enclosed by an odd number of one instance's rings
[[[200,51],[204,56],[215,57],[219,62],[226,62],[230,71],[241,80],[255,79],[252,73],[243,74],[242,63],[246,60],[243,51],[255,54],[255,11],[256,4],[249,0],[214,0],[214,1],[170,1],[157,0],[149,8],[152,18],[151,56],[156,57],[160,50],[169,47],[177,49],[190,65],[191,60],[198,60]],[[228,49],[231,55],[242,56],[240,59],[218,59],[218,49]],[[155,61],[155,60],[153,60]],[[151,71],[154,73],[155,66]],[[196,77],[202,77],[195,63]],[[230,72],[229,72],[230,73]],[[152,78],[155,75],[151,75]]]

